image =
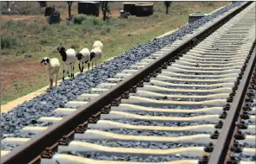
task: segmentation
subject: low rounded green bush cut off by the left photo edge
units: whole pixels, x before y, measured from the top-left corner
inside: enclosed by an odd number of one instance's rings
[[[12,35],[1,35],[1,49],[19,47],[20,41]]]

